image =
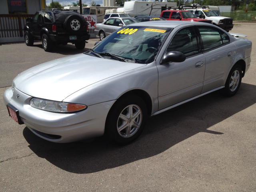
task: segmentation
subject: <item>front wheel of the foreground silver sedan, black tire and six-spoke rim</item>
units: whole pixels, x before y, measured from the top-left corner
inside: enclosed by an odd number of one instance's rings
[[[131,109],[132,115],[135,115],[133,118],[129,112]],[[136,95],[121,98],[114,103],[108,113],[104,135],[112,143],[128,144],[140,136],[147,118],[148,109],[142,98]],[[118,126],[119,128],[122,126],[124,129],[118,131]]]

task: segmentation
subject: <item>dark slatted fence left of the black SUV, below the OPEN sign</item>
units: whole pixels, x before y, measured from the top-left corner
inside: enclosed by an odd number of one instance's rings
[[[0,14],[0,38],[22,37],[26,18],[34,14]]]

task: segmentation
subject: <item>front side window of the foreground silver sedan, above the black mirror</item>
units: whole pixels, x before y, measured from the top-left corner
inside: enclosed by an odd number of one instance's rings
[[[188,56],[198,54],[196,33],[193,27],[187,27],[175,34],[170,42],[167,52],[179,51]]]

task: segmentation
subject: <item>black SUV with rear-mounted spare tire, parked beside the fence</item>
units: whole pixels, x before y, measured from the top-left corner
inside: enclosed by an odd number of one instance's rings
[[[85,47],[88,23],[76,10],[44,9],[36,12],[33,18],[26,19],[24,38],[27,46],[34,44],[34,39],[42,40],[45,51],[51,51],[54,44],[75,44],[77,49]]]

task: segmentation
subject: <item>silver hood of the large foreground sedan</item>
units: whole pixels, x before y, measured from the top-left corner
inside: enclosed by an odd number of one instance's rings
[[[30,96],[62,101],[86,86],[145,65],[77,54],[34,66],[14,78],[14,84]]]

